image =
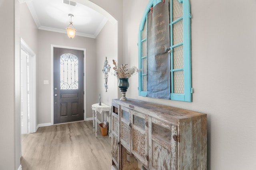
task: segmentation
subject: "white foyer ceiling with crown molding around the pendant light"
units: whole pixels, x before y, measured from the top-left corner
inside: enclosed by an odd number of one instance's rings
[[[107,22],[107,18],[102,14],[76,2],[73,2],[76,6],[65,4],[63,0],[20,0],[20,2],[27,3],[38,29],[42,30],[66,33],[66,27],[70,23],[68,14],[73,14],[72,21],[76,35],[96,38]]]

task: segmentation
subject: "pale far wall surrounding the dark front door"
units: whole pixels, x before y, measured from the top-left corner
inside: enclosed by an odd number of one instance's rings
[[[38,119],[39,124],[51,122],[51,44],[86,49],[86,117],[92,117],[96,91],[96,43],[95,39],[76,36],[70,40],[64,33],[38,31]],[[44,84],[49,80],[49,84]]]

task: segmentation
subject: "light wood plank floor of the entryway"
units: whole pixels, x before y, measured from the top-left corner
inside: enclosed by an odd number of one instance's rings
[[[22,170],[111,170],[111,163],[111,138],[100,131],[95,138],[92,121],[22,134]]]

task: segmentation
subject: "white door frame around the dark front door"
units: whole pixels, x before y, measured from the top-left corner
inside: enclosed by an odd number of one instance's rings
[[[54,125],[54,80],[53,80],[53,48],[84,51],[84,120],[86,120],[86,49],[51,44],[51,125]]]

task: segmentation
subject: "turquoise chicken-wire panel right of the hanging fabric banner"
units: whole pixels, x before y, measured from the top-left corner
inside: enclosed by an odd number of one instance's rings
[[[171,100],[192,101],[190,4],[170,0]]]

